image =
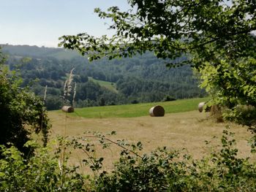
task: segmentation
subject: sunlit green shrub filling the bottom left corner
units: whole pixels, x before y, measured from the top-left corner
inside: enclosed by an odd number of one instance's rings
[[[86,191],[78,167],[61,164],[48,148],[37,151],[29,160],[15,147],[1,146],[0,191]],[[59,154],[59,153],[58,153]]]

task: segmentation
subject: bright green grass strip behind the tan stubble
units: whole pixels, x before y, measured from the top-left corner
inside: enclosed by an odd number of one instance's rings
[[[83,118],[135,118],[148,115],[151,107],[161,105],[165,109],[165,113],[187,112],[197,110],[197,105],[206,98],[199,99],[183,99],[177,101],[165,101],[146,104],[127,104],[113,105],[105,107],[86,107],[77,108],[75,112],[69,114],[73,117]],[[59,111],[60,112],[60,111]]]

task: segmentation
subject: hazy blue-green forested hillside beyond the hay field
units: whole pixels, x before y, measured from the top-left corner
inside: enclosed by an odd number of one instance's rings
[[[78,53],[61,48],[4,45],[10,69],[19,70],[23,86],[29,85],[39,96],[47,94],[48,110],[63,105],[64,82],[73,70],[69,101],[76,87],[75,107],[163,101],[205,96],[189,66],[168,69],[165,61],[152,53],[133,58],[89,63]],[[29,57],[29,59],[22,59]],[[89,78],[90,77],[90,78]],[[110,82],[116,90],[99,85],[95,80]],[[76,85],[75,85],[76,84]]]

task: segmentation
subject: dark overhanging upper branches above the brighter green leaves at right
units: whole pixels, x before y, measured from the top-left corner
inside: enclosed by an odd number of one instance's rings
[[[129,4],[132,9],[127,12],[118,7],[108,12],[95,9],[99,18],[113,20],[113,37],[64,36],[61,45],[89,54],[91,60],[146,50],[172,59],[191,53],[184,62],[196,66],[214,61],[219,53],[230,57],[254,54],[255,37],[250,34],[256,30],[255,1],[130,0]]]

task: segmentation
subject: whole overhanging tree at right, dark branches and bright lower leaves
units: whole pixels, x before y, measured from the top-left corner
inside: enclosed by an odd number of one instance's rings
[[[153,51],[167,66],[190,64],[203,75],[213,101],[235,111],[256,107],[256,1],[129,0],[126,12],[97,8],[110,18],[113,37],[89,34],[61,37],[60,45],[93,61]],[[186,56],[186,59],[184,59]]]

